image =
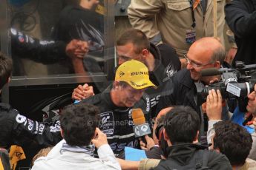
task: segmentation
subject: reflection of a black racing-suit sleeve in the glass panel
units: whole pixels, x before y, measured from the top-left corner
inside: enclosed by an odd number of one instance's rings
[[[67,58],[65,53],[67,44],[63,41],[41,41],[24,35],[14,28],[10,29],[10,35],[13,55],[42,64],[53,64]]]

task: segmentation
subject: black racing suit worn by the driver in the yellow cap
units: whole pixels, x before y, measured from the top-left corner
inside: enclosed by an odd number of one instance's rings
[[[107,135],[108,144],[114,154],[119,154],[125,149],[125,146],[137,148],[140,144],[134,136],[134,123],[131,117],[132,108],[115,106],[111,101],[110,89],[108,88],[105,92],[87,98],[79,104],[91,103],[99,107],[99,129]],[[151,126],[151,106],[148,96],[143,95],[142,99],[133,108],[141,108],[146,122]]]

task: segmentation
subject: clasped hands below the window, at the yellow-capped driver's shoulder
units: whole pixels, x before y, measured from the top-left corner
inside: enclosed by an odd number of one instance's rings
[[[94,95],[93,86],[88,84],[79,85],[76,89],[73,89],[72,98],[77,101],[82,101],[82,99],[89,98]]]

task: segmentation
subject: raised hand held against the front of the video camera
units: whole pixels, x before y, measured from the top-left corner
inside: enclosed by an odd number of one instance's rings
[[[221,120],[222,113],[222,96],[220,90],[217,92],[214,89],[209,90],[209,95],[206,99],[206,114],[209,120]]]

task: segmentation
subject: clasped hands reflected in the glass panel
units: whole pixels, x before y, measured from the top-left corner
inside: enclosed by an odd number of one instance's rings
[[[66,54],[72,58],[84,58],[88,53],[89,47],[86,41],[73,39],[66,47]]]

